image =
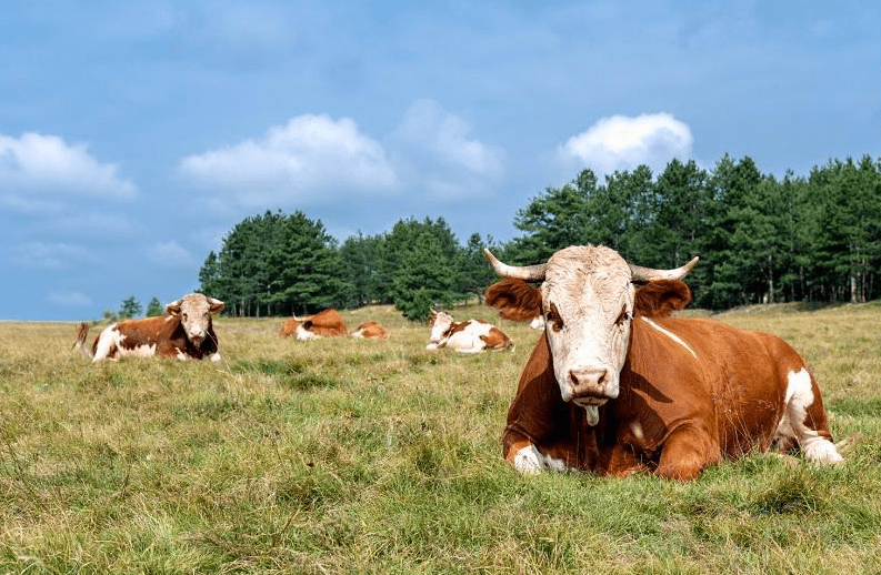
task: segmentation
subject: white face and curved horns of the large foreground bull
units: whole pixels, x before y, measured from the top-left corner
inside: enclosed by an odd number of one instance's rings
[[[681,280],[698,262],[675,270],[629,264],[604,246],[572,246],[547,263],[513,266],[484,250],[495,273],[524,282],[542,282],[541,314],[563,401],[584,407],[595,425],[598,408],[618,397],[634,313],[634,283]],[[537,310],[538,311],[538,310]]]

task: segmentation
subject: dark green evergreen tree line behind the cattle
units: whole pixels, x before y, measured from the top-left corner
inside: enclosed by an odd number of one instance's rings
[[[411,319],[477,296],[495,281],[489,246],[508,263],[543,262],[568,245],[604,244],[628,261],[689,274],[695,304],[722,310],[759,302],[864,302],[881,285],[881,159],[830,160],[807,176],[762,174],[749,157],[712,170],[672,160],[600,182],[584,170],[547,188],[514,216],[521,235],[462,245],[442,218],[400,220],[342,244],[300,211],[237,224],[199,273],[201,291],[236,315],[306,314],[322,307],[394,304]]]

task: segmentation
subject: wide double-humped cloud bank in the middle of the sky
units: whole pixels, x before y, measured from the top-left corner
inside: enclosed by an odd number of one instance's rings
[[[504,152],[471,134],[471,123],[432,100],[411,105],[380,140],[354,120],[303,114],[259,139],[186,157],[179,172],[244,206],[338,203],[422,193],[485,193],[504,171]]]

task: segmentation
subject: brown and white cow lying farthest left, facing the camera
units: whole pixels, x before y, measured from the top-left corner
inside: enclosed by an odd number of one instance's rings
[[[211,316],[223,311],[223,302],[190,293],[166,306],[168,315],[128,320],[108,325],[94,339],[91,351],[86,345],[88,324],[80,325],[76,347],[99,362],[126,355],[210,359],[220,361],[218,339]]]

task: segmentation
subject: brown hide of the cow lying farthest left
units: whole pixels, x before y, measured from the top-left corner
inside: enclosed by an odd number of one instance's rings
[[[108,327],[110,329],[110,327]],[[144,317],[142,320],[128,320],[119,322],[113,327],[124,336],[119,347],[114,344],[108,357],[117,357],[120,352],[131,351],[142,345],[156,345],[157,357],[179,357],[186,355],[193,360],[209,357],[218,351],[218,339],[214,326],[209,319],[207,337],[198,346],[187,337],[179,316],[164,315],[161,317]],[[78,343],[86,341],[88,326],[81,324],[78,333]],[[92,355],[98,347],[99,334],[92,343]]]

